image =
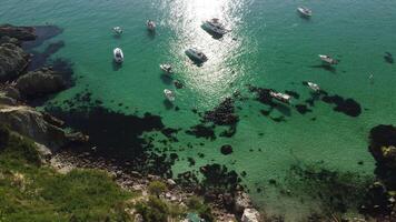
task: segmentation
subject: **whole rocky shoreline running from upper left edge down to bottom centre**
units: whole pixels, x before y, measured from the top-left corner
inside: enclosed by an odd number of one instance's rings
[[[46,160],[59,172],[68,172],[73,168],[99,169],[109,172],[122,188],[141,191],[147,195],[150,181],[164,181],[169,191],[164,199],[185,204],[191,195],[200,194],[207,199],[202,190],[191,189],[176,183],[172,179],[154,174],[142,174],[117,164],[91,152],[75,152],[78,147],[87,147],[89,135],[81,132],[69,133],[63,130],[65,122],[47,112],[37,111],[28,104],[36,100],[60,92],[70,84],[65,69],[48,65],[47,59],[56,52],[61,43],[50,44],[43,53],[28,53],[23,49],[40,46],[46,39],[61,33],[61,29],[49,27],[0,26],[0,121],[11,130],[36,141]],[[59,61],[58,61],[59,62]],[[63,67],[65,68],[65,67]],[[242,191],[211,196],[209,204],[214,209],[217,221],[260,221],[259,213],[253,208],[251,201]],[[231,206],[231,208],[229,208]]]

